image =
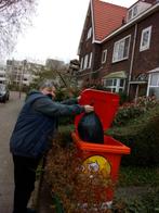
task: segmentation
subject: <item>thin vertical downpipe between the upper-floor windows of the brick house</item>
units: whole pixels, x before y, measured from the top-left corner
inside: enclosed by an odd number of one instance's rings
[[[135,45],[136,45],[137,26],[138,25],[135,24],[134,40],[133,40],[133,48],[132,48],[132,57],[131,57],[130,70],[129,70],[129,78],[128,78],[127,96],[129,96],[129,92],[130,92],[130,80],[131,80],[131,77],[132,77],[132,70],[133,70],[133,62],[134,62],[134,52],[135,52]]]

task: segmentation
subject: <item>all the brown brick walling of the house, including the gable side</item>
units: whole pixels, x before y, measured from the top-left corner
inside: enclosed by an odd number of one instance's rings
[[[97,83],[102,77],[111,73],[111,72],[120,72],[124,71],[129,76],[131,70],[131,59],[133,57],[133,43],[134,43],[134,34],[135,27],[137,26],[137,34],[135,40],[135,49],[134,49],[134,59],[132,63],[132,77],[131,80],[134,80],[138,74],[147,73],[150,70],[159,67],[159,12],[155,12],[154,14],[147,16],[143,21],[135,23],[129,28],[124,29],[124,32],[119,33],[118,35],[111,37],[108,40],[105,40],[103,43],[92,43],[92,39],[85,40],[88,29],[92,25],[91,17],[88,18],[88,26],[84,32],[83,43],[81,45],[80,58],[85,55],[87,53],[93,52],[92,58],[92,66],[89,70],[84,70],[81,74],[90,73],[92,74],[85,76],[81,76],[84,82]],[[151,26],[151,38],[150,38],[150,47],[147,50],[140,51],[141,46],[141,37],[142,30]],[[131,35],[130,40],[130,49],[129,49],[129,58],[122,61],[118,61],[112,63],[112,53],[114,53],[114,45],[116,41]],[[102,64],[102,52],[107,49],[107,60],[106,63]],[[125,85],[125,90],[128,88],[128,79]],[[133,86],[131,86],[132,89]],[[144,90],[144,86],[142,86],[142,91]],[[135,92],[135,89],[134,89]]]

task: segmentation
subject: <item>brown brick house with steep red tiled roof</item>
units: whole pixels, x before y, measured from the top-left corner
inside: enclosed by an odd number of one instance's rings
[[[159,1],[127,9],[90,0],[78,54],[80,85],[159,98]]]

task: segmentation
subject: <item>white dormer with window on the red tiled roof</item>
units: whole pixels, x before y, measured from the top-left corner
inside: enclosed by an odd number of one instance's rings
[[[140,15],[142,12],[147,10],[149,7],[151,7],[151,3],[148,3],[144,0],[137,1],[135,4],[129,8],[128,14],[127,14],[127,22],[130,22],[137,15]]]

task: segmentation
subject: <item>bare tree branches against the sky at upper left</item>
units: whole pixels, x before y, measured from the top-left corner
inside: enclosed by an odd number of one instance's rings
[[[0,57],[11,52],[17,35],[31,24],[37,0],[0,0]]]

